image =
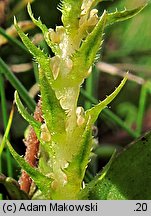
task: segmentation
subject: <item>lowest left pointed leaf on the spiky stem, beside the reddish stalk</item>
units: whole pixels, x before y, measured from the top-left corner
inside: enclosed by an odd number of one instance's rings
[[[44,194],[47,199],[51,199],[51,179],[44,176],[37,169],[31,167],[24,158],[20,157],[20,155],[13,149],[9,141],[7,141],[7,145],[9,150],[17,163],[24,169],[28,175],[34,180],[38,188]]]

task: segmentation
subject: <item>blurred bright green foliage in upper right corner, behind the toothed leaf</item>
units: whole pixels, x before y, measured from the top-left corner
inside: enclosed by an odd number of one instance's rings
[[[145,0],[119,0],[115,1],[113,8],[116,5],[117,8],[133,8],[142,3]],[[110,8],[110,10],[113,10]],[[134,19],[128,20],[124,23],[119,23],[116,28],[109,28],[110,38],[107,59],[114,59],[116,62],[122,60],[122,57],[128,57],[129,62],[135,62],[139,64],[151,65],[151,5],[149,4],[144,11],[138,14]],[[115,63],[115,62],[114,62]]]

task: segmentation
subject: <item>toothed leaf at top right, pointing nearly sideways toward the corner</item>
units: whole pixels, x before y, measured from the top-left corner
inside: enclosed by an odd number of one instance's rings
[[[143,4],[140,7],[137,7],[132,10],[124,10],[124,11],[115,11],[114,13],[108,13],[107,14],[107,22],[106,25],[112,25],[116,22],[124,21],[127,20],[136,14],[138,14],[140,11],[142,11],[145,7],[147,6],[146,4]]]

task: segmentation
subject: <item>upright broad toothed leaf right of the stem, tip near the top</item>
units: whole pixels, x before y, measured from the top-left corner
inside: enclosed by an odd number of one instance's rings
[[[96,54],[102,44],[103,31],[106,23],[106,11],[104,11],[98,24],[93,31],[87,36],[80,49],[73,56],[74,68],[73,78],[80,82],[88,76],[88,70],[93,64]],[[80,67],[79,67],[80,62]],[[83,73],[81,73],[83,71]]]

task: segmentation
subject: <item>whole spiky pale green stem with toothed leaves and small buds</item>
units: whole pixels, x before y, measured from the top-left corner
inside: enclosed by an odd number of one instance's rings
[[[96,54],[102,45],[104,28],[128,19],[143,9],[115,13],[104,11],[98,17],[94,7],[101,0],[63,0],[63,26],[48,29],[36,20],[28,5],[32,21],[42,30],[44,39],[54,52],[48,57],[37,48],[18,26],[23,43],[39,66],[39,86],[44,123],[37,122],[22,105],[18,93],[15,101],[21,115],[34,128],[40,141],[39,164],[32,168],[8,143],[20,166],[34,180],[46,199],[77,199],[92,149],[91,127],[99,113],[120,92],[118,88],[93,108],[77,107],[80,86],[92,70]]]

